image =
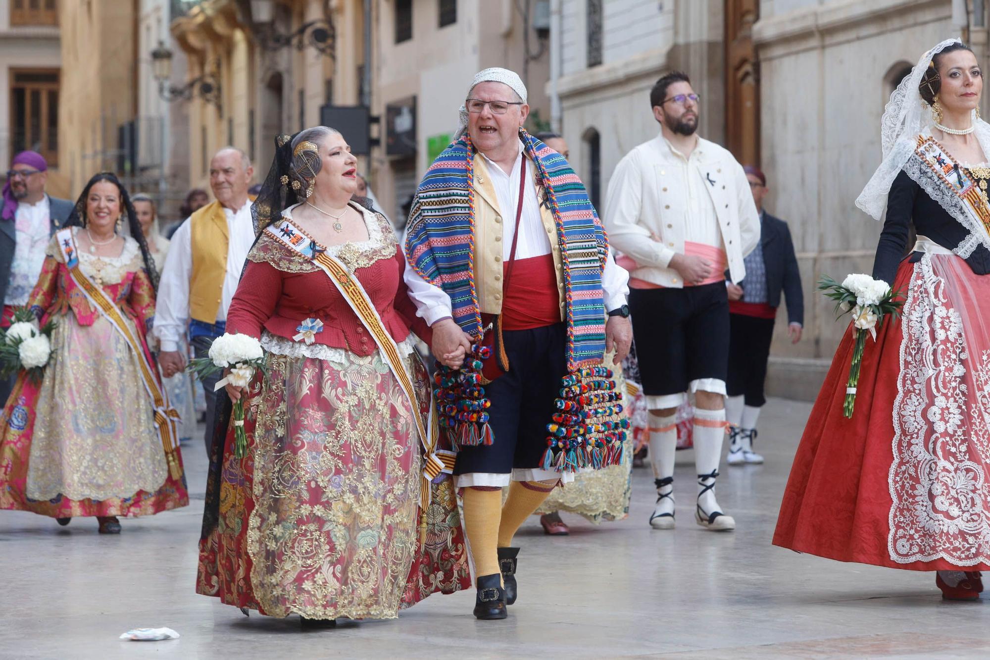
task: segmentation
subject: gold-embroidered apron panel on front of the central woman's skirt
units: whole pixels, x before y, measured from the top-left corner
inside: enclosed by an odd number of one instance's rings
[[[268,354],[247,553],[269,614],[390,618],[406,589],[422,471],[414,412],[378,352],[340,357]]]

